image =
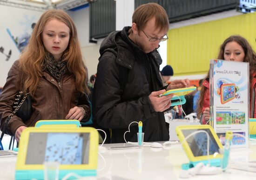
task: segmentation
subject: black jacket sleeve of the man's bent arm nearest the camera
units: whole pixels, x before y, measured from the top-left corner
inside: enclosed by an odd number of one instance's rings
[[[93,116],[103,128],[121,129],[128,128],[133,121],[143,122],[155,116],[155,111],[147,95],[121,96],[120,70],[115,59],[114,55],[104,56],[99,61],[93,91]],[[132,86],[129,83],[132,82],[127,82],[126,90]]]

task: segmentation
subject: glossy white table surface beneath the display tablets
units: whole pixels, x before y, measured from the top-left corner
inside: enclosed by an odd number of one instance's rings
[[[232,150],[231,159],[256,161],[256,143],[250,149]],[[104,145],[107,147],[108,145]],[[182,163],[189,162],[180,144],[166,148],[107,150],[99,148],[97,177],[84,180],[177,180]],[[16,156],[0,156],[0,180],[14,180]],[[189,180],[250,180],[256,173],[235,169],[217,175],[196,175]],[[186,179],[181,179],[186,180]]]

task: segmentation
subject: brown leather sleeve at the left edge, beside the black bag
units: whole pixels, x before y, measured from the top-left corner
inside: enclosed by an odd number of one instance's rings
[[[15,61],[8,72],[6,84],[0,95],[0,128],[4,130],[8,116],[13,112],[15,95],[20,91],[19,61]],[[13,116],[7,124],[7,134],[14,135],[20,126],[26,126],[20,117]]]

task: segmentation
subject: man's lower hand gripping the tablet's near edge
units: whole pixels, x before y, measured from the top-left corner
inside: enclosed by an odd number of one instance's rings
[[[154,110],[157,112],[162,112],[171,106],[171,98],[173,95],[170,94],[167,96],[159,97],[159,95],[164,92],[165,90],[154,91],[151,92],[151,94],[148,96],[150,103],[152,104]]]

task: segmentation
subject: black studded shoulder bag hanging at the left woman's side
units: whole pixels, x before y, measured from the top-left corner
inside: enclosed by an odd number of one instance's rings
[[[23,94],[22,91],[20,91],[15,98],[15,102],[13,103],[13,112],[10,114],[4,124],[3,132],[0,137],[0,142],[2,141],[4,134],[7,134],[7,125],[10,119],[14,116],[14,114],[22,119],[22,121],[27,121],[30,117],[31,113],[31,96],[29,95],[29,92],[25,92]],[[11,141],[9,144],[9,149],[11,148],[11,144],[14,144],[14,136],[11,136]]]

